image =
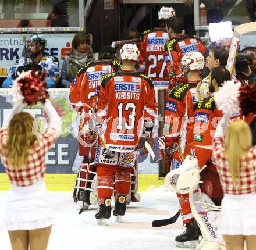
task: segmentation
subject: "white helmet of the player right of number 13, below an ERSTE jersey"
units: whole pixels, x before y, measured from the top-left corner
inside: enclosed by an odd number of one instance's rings
[[[184,69],[185,66],[189,67],[189,70],[202,70],[204,56],[198,51],[186,53],[180,61],[180,69]]]

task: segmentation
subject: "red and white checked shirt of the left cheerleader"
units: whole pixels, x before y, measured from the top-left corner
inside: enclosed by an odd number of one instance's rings
[[[49,151],[58,138],[55,128],[47,128],[40,140],[36,140],[28,151],[26,166],[22,169],[14,169],[8,166],[8,127],[0,130],[0,156],[5,165],[5,171],[13,185],[29,186],[41,180],[45,174],[45,153]]]

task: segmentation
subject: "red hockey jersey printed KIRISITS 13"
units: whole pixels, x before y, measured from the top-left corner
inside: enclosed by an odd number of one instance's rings
[[[97,116],[104,117],[99,144],[111,151],[137,148],[144,119],[157,117],[154,85],[141,73],[116,72],[102,77]]]

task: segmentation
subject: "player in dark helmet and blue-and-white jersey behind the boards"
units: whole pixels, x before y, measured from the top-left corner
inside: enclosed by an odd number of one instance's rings
[[[49,88],[54,88],[59,80],[59,63],[53,56],[43,55],[46,46],[44,35],[30,35],[27,38],[27,57],[17,59],[10,68],[8,78],[3,81],[2,88],[9,88],[17,77],[17,72],[39,70],[47,73],[46,83]]]

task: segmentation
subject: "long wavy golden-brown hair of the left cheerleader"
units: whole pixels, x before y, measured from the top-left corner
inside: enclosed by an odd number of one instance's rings
[[[20,112],[13,116],[8,131],[8,165],[14,169],[22,169],[27,162],[27,153],[37,140],[32,133],[34,117]]]

